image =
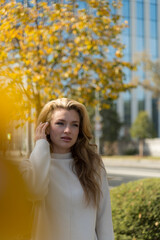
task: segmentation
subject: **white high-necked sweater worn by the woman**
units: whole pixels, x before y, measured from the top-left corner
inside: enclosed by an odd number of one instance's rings
[[[109,188],[105,171],[97,209],[84,202],[84,191],[72,171],[71,153],[50,154],[49,144],[40,139],[29,159],[26,180],[35,199],[45,197],[52,240],[113,240]],[[47,239],[45,239],[47,240]]]

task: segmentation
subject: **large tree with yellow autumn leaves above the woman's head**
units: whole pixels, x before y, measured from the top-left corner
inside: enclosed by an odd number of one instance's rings
[[[26,7],[1,1],[0,87],[21,94],[21,118],[30,118],[31,109],[38,116],[50,99],[67,96],[95,105],[96,91],[102,99],[116,99],[133,86],[123,81],[123,69],[134,66],[122,60],[118,38],[126,24],[105,0],[86,0],[88,9],[73,2],[35,0]]]

